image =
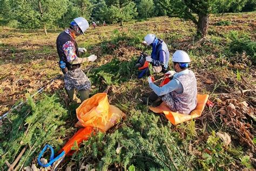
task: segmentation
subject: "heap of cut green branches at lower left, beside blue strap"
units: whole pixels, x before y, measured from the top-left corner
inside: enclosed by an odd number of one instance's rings
[[[44,96],[37,103],[28,97],[28,105],[21,111],[9,114],[11,123],[6,122],[0,133],[0,167],[6,169],[5,160],[12,163],[21,149],[28,146],[17,166],[30,165],[45,143],[60,145],[64,136],[67,111],[59,104],[55,95]]]

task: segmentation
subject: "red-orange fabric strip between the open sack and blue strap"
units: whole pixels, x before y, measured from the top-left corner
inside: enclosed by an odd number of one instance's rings
[[[81,142],[87,140],[91,134],[94,134],[92,127],[80,128],[75,135],[65,144],[65,146],[60,149],[59,153],[65,151],[65,155],[72,155],[73,152],[71,147],[73,147],[75,141],[77,141],[78,147]]]

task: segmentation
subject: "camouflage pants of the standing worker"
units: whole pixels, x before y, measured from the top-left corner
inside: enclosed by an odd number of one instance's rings
[[[87,78],[82,69],[78,68],[64,74],[66,90],[90,90],[91,81]]]

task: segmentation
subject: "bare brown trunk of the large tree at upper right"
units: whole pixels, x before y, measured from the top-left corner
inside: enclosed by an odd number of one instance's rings
[[[205,37],[207,35],[209,26],[209,15],[208,13],[199,13],[198,15],[198,31]]]

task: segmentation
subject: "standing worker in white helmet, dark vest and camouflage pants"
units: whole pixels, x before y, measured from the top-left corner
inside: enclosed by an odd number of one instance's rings
[[[83,17],[75,18],[70,28],[59,34],[56,45],[59,55],[59,66],[64,73],[65,89],[71,101],[76,101],[75,88],[79,91],[80,100],[89,98],[91,82],[80,65],[86,61],[95,61],[97,56],[92,54],[87,58],[79,58],[79,54],[86,52],[85,48],[78,48],[76,37],[84,35],[89,23]]]

